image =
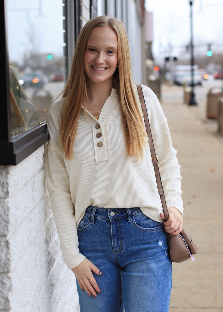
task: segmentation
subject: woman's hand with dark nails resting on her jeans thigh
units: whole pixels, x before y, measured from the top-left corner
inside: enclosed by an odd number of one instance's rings
[[[93,295],[96,298],[97,293],[100,294],[101,290],[97,285],[92,271],[97,275],[103,274],[91,261],[85,258],[84,261],[71,270],[76,275],[81,290],[86,290],[89,297]]]

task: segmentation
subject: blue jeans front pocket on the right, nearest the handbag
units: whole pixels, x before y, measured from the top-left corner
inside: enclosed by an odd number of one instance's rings
[[[137,229],[141,231],[156,231],[164,228],[162,222],[154,221],[144,215],[142,212],[133,215],[132,223]]]

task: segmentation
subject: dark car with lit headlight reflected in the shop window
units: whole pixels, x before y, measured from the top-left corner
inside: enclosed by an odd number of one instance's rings
[[[21,74],[18,82],[23,88],[43,88],[47,83],[47,77],[42,71],[30,71]]]

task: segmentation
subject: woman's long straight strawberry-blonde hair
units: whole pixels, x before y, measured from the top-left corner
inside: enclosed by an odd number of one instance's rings
[[[126,149],[129,156],[143,157],[146,131],[141,111],[133,90],[131,58],[127,34],[123,24],[115,17],[99,16],[89,20],[82,28],[75,47],[71,71],[62,92],[65,98],[61,113],[60,141],[67,159],[73,156],[72,146],[77,133],[81,106],[87,98],[87,87],[83,67],[84,51],[87,40],[94,27],[111,27],[118,39],[119,68],[114,73],[115,85],[119,96]]]

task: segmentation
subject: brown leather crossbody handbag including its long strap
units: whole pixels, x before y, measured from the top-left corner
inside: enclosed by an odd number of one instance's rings
[[[155,153],[148,113],[146,110],[146,104],[145,104],[141,85],[137,85],[137,90],[139,93],[142,110],[144,112],[143,116],[144,116],[144,121],[146,125],[146,133],[148,135],[149,142],[150,142],[151,160],[152,160],[153,168],[154,168],[155,175],[156,175],[157,188],[158,188],[158,192],[159,192],[161,203],[162,203],[165,221],[167,221],[169,218],[169,213],[168,213],[168,209],[166,206],[166,199],[165,199],[164,192],[163,192],[163,186],[162,186],[162,181],[160,177],[160,170],[158,166],[158,158]],[[190,258],[194,261],[193,255],[197,253],[197,246],[192,241],[191,237],[186,233],[185,230],[182,229],[180,234],[174,235],[174,236],[171,236],[168,234],[168,243],[169,243],[170,258],[172,262],[180,263]]]

